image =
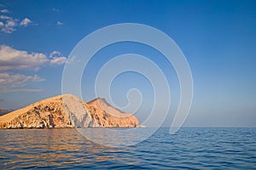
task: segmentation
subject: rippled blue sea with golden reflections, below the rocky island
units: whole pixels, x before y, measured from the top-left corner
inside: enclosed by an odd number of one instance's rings
[[[161,127],[127,147],[96,144],[76,129],[0,130],[0,138],[0,169],[256,169],[256,128],[181,128],[171,135]]]

